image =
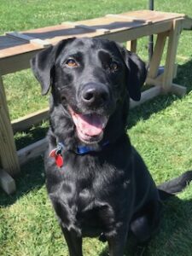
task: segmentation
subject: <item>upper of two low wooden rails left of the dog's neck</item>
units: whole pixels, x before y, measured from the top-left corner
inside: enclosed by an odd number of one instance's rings
[[[38,125],[40,122],[42,122],[45,119],[48,119],[49,116],[49,108],[44,108],[42,110],[39,110],[35,113],[27,114],[26,116],[15,119],[11,122],[13,131],[24,131],[32,125]]]

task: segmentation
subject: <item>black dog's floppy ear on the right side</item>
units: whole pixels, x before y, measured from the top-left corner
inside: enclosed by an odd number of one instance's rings
[[[147,76],[146,65],[137,54],[121,46],[119,50],[128,68],[127,89],[129,95],[132,100],[138,102],[141,99],[141,88]]]

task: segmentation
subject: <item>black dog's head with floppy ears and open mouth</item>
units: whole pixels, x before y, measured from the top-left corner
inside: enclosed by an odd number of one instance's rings
[[[137,55],[98,38],[63,40],[38,53],[31,64],[42,94],[51,86],[54,106],[69,113],[84,143],[100,142],[110,122],[120,126],[117,114],[124,113],[125,119],[125,102],[129,97],[140,100],[146,78],[145,64]]]

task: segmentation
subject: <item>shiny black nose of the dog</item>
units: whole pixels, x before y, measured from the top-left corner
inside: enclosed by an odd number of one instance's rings
[[[104,84],[86,84],[82,90],[81,97],[85,104],[103,104],[108,102],[108,88]]]

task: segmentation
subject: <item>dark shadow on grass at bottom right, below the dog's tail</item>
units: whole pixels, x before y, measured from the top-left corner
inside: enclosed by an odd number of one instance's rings
[[[131,236],[125,246],[125,256],[181,255],[190,256],[192,233],[192,199],[180,200],[172,196],[164,202],[160,230],[145,246],[137,245]],[[190,230],[190,231],[189,231]],[[179,242],[179,245],[177,244]],[[184,245],[180,247],[180,245]],[[182,251],[182,253],[180,252]],[[108,246],[99,254],[108,256]]]

